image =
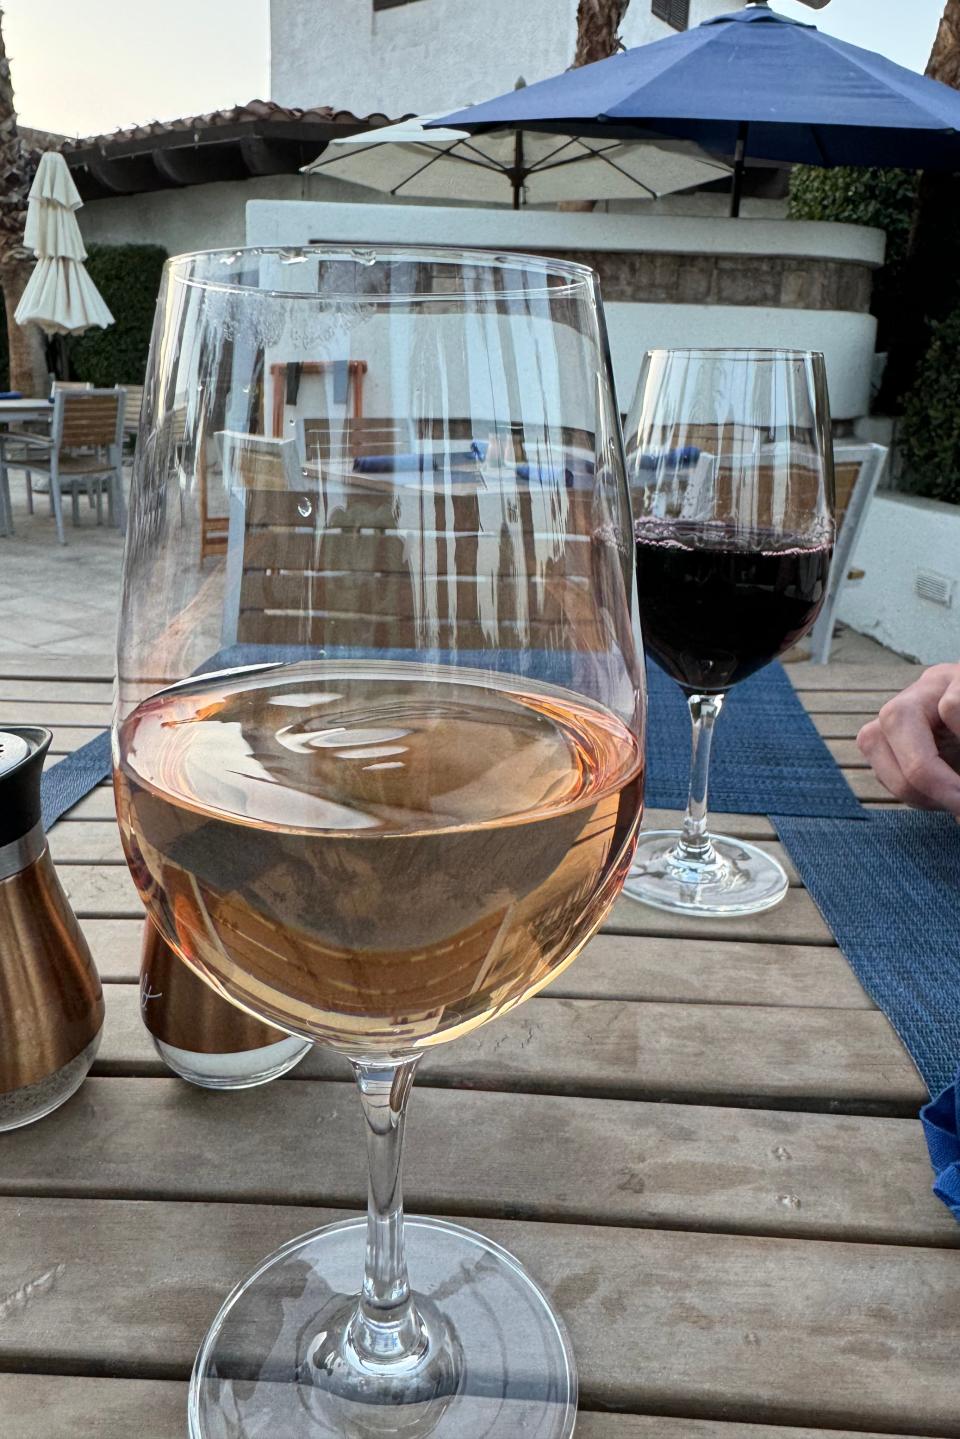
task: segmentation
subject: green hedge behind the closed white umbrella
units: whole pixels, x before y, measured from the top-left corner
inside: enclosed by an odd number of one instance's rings
[[[160,273],[167,252],[158,245],[91,245],[89,276],[114,324],[68,340],[71,378],[96,386],[142,384]]]

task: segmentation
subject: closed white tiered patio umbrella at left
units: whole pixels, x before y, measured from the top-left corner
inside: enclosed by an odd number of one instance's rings
[[[37,262],[13,317],[19,325],[79,335],[92,325],[114,324],[83,266],[86,250],[75,214],[82,203],[66,160],[49,150],[40,157],[27,203],[23,239]]]

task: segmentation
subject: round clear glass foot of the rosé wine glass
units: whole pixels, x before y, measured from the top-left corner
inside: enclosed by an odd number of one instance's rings
[[[366,1238],[364,1219],[304,1235],[227,1297],[194,1364],[190,1439],[570,1439],[577,1376],[560,1318],[507,1250],[445,1220],[406,1220],[410,1284],[442,1330],[435,1392],[416,1368],[351,1393],[318,1367],[353,1309]]]

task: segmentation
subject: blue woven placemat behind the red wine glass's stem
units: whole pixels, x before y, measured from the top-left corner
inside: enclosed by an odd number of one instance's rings
[[[689,783],[687,701],[648,662],[646,803],[685,809]],[[717,721],[710,807],[734,814],[822,814],[866,819],[782,665],[767,665],[730,691]]]

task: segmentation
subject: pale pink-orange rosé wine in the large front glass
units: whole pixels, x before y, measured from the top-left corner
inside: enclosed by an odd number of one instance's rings
[[[164,937],[348,1053],[449,1039],[551,980],[633,856],[642,753],[533,681],[390,662],[235,671],[144,701],[117,807]]]

